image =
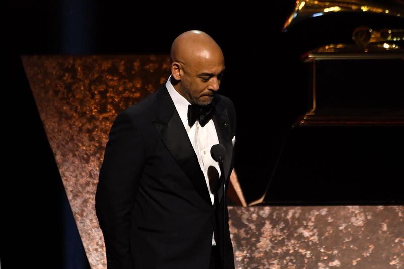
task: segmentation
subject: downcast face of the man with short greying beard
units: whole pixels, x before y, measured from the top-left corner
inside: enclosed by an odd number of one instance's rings
[[[219,90],[224,72],[223,57],[192,64],[182,65],[180,91],[190,102],[198,105],[208,105],[214,94]]]

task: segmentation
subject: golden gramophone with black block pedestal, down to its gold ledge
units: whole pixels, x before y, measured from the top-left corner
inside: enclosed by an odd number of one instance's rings
[[[297,0],[283,31],[337,13],[404,22],[404,1]],[[324,45],[302,57],[312,73],[310,109],[296,125],[404,124],[404,29],[373,27],[358,25],[350,44]]]

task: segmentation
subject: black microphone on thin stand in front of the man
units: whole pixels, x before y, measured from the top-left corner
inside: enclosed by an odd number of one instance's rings
[[[221,144],[216,144],[211,147],[211,156],[215,160],[215,162],[219,163],[220,168],[220,178],[222,179],[223,185],[223,268],[226,268],[226,184],[224,178],[224,168],[223,168],[223,160],[226,157],[226,149]],[[218,187],[219,188],[219,187]],[[219,206],[219,204],[218,204]]]

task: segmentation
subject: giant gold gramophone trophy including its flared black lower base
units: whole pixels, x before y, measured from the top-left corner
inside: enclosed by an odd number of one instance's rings
[[[253,204],[404,202],[403,15],[402,0],[296,2],[284,31],[306,37],[296,49],[321,44],[302,56],[308,109]]]

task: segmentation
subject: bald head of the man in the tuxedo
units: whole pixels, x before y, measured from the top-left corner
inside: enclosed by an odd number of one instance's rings
[[[190,103],[210,104],[219,90],[224,57],[208,34],[192,30],[180,34],[171,46],[171,83]]]

